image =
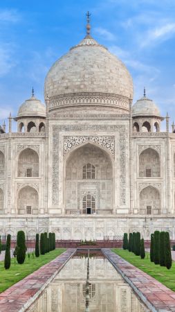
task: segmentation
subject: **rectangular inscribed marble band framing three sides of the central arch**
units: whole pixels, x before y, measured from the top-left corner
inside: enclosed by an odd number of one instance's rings
[[[120,205],[126,204],[126,138],[125,125],[53,125],[53,205],[59,203],[59,132],[93,131],[93,132],[119,132],[120,149]]]

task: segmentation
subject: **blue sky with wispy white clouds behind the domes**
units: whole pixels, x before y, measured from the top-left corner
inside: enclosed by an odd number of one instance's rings
[[[127,65],[134,101],[143,87],[165,116],[175,119],[174,0],[3,0],[0,4],[0,123],[30,97],[44,101],[50,66],[85,35],[91,12],[93,37]]]

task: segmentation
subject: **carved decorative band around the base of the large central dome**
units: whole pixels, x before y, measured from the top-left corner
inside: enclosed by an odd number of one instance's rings
[[[50,97],[48,110],[55,110],[61,107],[70,106],[111,106],[121,107],[124,110],[129,110],[129,98],[118,94],[108,94],[102,92],[79,92],[70,94],[60,94]]]

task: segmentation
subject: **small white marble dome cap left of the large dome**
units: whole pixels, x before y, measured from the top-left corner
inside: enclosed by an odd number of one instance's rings
[[[19,107],[17,117],[28,116],[46,117],[46,106],[35,96],[31,96]]]

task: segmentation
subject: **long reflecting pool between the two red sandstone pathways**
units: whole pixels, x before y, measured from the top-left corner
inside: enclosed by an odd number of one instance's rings
[[[77,252],[28,311],[149,311],[101,252],[89,254],[88,284],[87,267],[88,254]]]

